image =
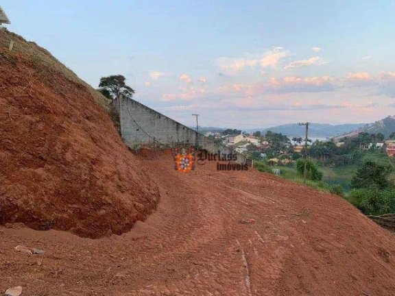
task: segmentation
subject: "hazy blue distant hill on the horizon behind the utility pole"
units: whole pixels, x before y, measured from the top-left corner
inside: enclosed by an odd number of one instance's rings
[[[351,132],[363,127],[366,123],[355,123],[355,124],[344,124],[344,125],[330,125],[322,123],[311,123],[309,125],[309,136],[315,138],[331,138],[339,134]],[[304,136],[304,127],[297,124],[277,125],[275,127],[269,127],[265,130],[261,130],[262,134],[266,134],[267,131],[285,134],[289,137]]]

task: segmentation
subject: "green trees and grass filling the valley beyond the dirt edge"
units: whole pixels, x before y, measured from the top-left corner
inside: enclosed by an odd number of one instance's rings
[[[395,132],[391,136],[394,135]],[[272,173],[272,169],[280,169],[283,179],[340,195],[364,214],[395,212],[394,160],[387,156],[385,148],[376,146],[383,140],[383,134],[361,133],[344,138],[343,145],[318,140],[311,143],[307,151],[307,180],[303,179],[304,151],[296,153],[289,138],[283,134],[269,131],[260,138],[269,143],[267,147],[248,147],[259,171]],[[293,140],[302,143],[302,138]],[[261,153],[265,153],[264,159],[261,159]],[[289,162],[281,162],[284,159]]]

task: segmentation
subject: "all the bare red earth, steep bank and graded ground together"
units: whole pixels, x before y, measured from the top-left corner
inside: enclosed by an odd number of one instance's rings
[[[93,90],[59,69],[0,49],[0,293],[395,294],[394,236],[341,197],[135,156]]]

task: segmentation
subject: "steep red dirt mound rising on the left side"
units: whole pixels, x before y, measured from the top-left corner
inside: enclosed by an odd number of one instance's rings
[[[10,39],[14,50],[0,48],[0,224],[91,238],[130,230],[156,208],[158,188],[93,90],[0,29],[0,45]]]

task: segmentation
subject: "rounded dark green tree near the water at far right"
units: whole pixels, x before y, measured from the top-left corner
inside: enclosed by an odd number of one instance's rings
[[[362,166],[358,169],[357,174],[352,177],[351,187],[359,188],[377,188],[385,189],[390,187],[390,166],[378,164],[368,160],[363,162]]]

